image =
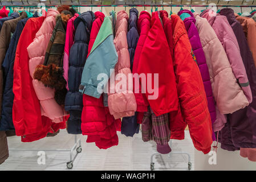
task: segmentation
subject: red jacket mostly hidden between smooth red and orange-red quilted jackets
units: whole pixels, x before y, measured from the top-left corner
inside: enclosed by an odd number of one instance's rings
[[[160,11],[160,15],[162,18],[166,39],[169,44],[170,55],[172,55],[173,57],[174,45],[173,45],[172,24],[170,23],[170,20],[168,18],[168,13],[165,10]],[[177,87],[177,83],[176,83],[176,87]],[[172,111],[169,113],[169,125],[170,125],[171,139],[182,140],[185,138],[184,131],[186,128],[186,123],[184,122],[184,119],[181,114],[180,103],[178,103],[177,111]]]

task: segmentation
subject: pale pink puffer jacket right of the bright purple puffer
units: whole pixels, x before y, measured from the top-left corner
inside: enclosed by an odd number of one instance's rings
[[[225,49],[212,26],[198,13],[194,13],[194,18],[196,18],[196,27],[205,53],[216,101],[216,121],[213,124],[213,130],[220,131],[226,123],[224,114],[234,113],[247,106],[249,102],[234,76]]]

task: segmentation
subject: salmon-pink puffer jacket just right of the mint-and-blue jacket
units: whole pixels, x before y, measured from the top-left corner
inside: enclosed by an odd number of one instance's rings
[[[109,113],[112,114],[115,119],[132,116],[137,110],[135,96],[132,91],[132,78],[129,79],[128,82],[128,74],[131,73],[127,44],[128,20],[128,14],[124,10],[117,13],[114,44],[118,61],[115,66],[115,77],[117,73],[123,73],[127,77],[127,80],[125,80],[127,81],[127,85],[126,90],[122,92],[121,86],[117,86],[117,84],[120,84],[119,82],[122,78],[115,80],[115,82],[109,81],[109,88],[110,90],[115,89],[115,93],[108,93],[108,107]]]

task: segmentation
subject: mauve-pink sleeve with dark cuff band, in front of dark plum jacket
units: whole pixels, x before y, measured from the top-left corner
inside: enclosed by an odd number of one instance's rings
[[[241,86],[247,100],[249,101],[249,103],[251,103],[251,101],[253,101],[253,96],[251,94],[249,81],[246,75],[245,65],[243,65],[243,60],[240,55],[237,38],[235,38],[235,34],[230,27],[229,22],[227,22],[226,18],[220,23],[223,23],[223,27],[225,27],[226,29],[225,31],[227,34],[227,38],[224,38],[223,40],[223,47],[226,51],[232,71],[235,78],[237,78],[238,84]]]

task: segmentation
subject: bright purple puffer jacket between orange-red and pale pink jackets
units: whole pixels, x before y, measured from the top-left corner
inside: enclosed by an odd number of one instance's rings
[[[195,26],[196,19],[194,15],[189,10],[181,10],[178,12],[178,15],[183,20],[186,31],[188,32],[189,41],[192,46],[194,55],[196,56],[198,68],[200,70],[202,80],[204,81],[205,93],[207,96],[208,109],[210,111],[210,117],[212,120],[212,124],[216,120],[216,109],[213,98],[213,90],[210,82],[210,74],[208,70],[208,66],[206,64],[204,50],[202,49],[202,44],[200,42],[200,37],[197,31],[197,27]],[[215,135],[213,133],[213,140],[216,140]]]

